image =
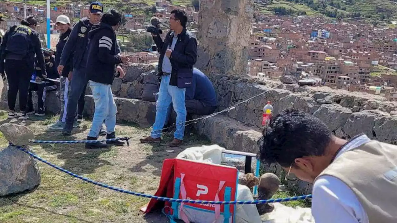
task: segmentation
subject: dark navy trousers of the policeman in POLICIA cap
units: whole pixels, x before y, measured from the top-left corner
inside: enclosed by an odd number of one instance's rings
[[[71,131],[73,129],[73,123],[76,119],[77,103],[81,94],[87,87],[87,75],[85,73],[85,67],[74,67],[73,76],[70,81],[70,94],[67,97],[66,106],[66,119],[64,130]]]

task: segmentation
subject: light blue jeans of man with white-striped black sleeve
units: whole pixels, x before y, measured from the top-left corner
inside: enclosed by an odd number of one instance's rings
[[[95,112],[93,117],[93,125],[88,133],[89,137],[98,137],[99,131],[102,127],[103,120],[105,120],[106,131],[108,134],[114,133],[116,126],[117,107],[113,99],[111,85],[101,84],[90,81],[90,88],[93,92],[95,103]]]

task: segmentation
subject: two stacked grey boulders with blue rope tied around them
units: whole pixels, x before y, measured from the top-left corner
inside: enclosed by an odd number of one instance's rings
[[[3,124],[0,131],[12,144],[29,150],[26,146],[33,132],[23,125]],[[40,171],[36,161],[10,145],[0,151],[0,196],[31,190],[40,184]]]

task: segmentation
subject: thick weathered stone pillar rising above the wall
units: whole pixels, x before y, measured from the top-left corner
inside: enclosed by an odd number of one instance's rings
[[[200,0],[196,67],[203,71],[247,72],[252,0]]]

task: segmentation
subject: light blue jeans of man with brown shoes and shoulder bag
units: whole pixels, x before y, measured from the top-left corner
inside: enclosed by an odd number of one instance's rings
[[[156,121],[154,121],[152,134],[150,135],[152,138],[159,138],[161,136],[161,129],[164,127],[167,119],[167,110],[172,103],[176,113],[174,138],[183,140],[186,122],[185,92],[186,88],[170,85],[170,75],[162,76],[156,102]]]

